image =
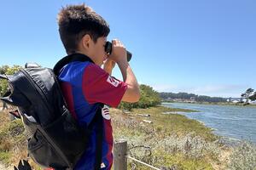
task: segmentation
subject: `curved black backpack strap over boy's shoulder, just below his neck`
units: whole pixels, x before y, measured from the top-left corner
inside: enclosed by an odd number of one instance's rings
[[[88,56],[86,56],[84,54],[70,54],[70,55],[67,55],[66,57],[62,58],[55,64],[55,67],[53,69],[55,75],[58,76],[60,74],[60,71],[63,68],[63,66],[65,66],[68,63],[73,62],[73,61],[82,61],[82,62],[90,61],[91,63],[94,63]]]

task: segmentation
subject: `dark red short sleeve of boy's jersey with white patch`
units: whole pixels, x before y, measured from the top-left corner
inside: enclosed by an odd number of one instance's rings
[[[84,68],[82,88],[89,104],[103,103],[117,107],[125,94],[127,84],[111,77],[98,65]]]

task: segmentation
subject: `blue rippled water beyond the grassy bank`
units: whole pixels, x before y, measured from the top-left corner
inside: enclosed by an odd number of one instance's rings
[[[256,107],[186,103],[162,103],[162,105],[200,111],[179,114],[203,122],[220,136],[230,139],[247,139],[256,143]]]

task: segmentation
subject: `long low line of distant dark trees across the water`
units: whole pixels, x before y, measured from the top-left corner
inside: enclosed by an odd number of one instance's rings
[[[220,97],[210,97],[206,95],[196,95],[188,93],[160,93],[160,98],[163,100],[167,99],[195,99],[196,102],[226,102],[225,98]]]

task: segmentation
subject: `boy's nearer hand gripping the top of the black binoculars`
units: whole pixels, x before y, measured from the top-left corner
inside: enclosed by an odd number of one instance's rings
[[[112,46],[112,53],[109,55],[109,59],[112,59],[117,64],[127,62],[127,53],[124,44],[118,39],[113,39]]]

